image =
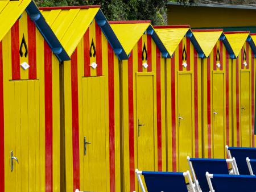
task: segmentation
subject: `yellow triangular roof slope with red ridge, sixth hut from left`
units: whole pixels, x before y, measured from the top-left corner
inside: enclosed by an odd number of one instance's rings
[[[249,36],[249,31],[224,32],[224,34],[234,52],[234,56],[238,57],[243,44],[245,44]]]

